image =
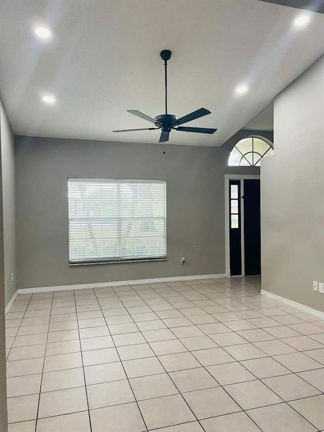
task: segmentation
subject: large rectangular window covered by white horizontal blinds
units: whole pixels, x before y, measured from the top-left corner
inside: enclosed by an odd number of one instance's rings
[[[68,179],[70,264],[166,258],[166,182]]]

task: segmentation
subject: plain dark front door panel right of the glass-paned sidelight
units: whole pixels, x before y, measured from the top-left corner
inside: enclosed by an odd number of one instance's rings
[[[244,180],[245,274],[261,274],[260,180]]]

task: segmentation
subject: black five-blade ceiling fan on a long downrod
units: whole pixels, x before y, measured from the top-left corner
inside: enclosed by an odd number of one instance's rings
[[[133,132],[133,131],[154,131],[157,129],[161,129],[161,135],[158,142],[166,142],[169,141],[169,134],[171,130],[175,131],[182,131],[182,132],[196,132],[198,134],[213,134],[217,131],[217,129],[209,129],[209,128],[191,128],[191,127],[183,127],[180,125],[183,125],[184,123],[190,122],[191,120],[199,119],[200,117],[203,117],[204,115],[211,114],[211,111],[209,111],[206,108],[200,108],[196,111],[190,112],[190,114],[184,115],[180,119],[178,119],[175,115],[168,114],[168,82],[167,82],[167,67],[168,67],[168,60],[171,58],[171,51],[170,50],[163,50],[160,53],[161,59],[164,60],[164,66],[165,66],[165,105],[166,105],[166,113],[157,115],[154,119],[152,117],[149,117],[146,114],[143,114],[140,111],[137,111],[136,109],[128,109],[128,112],[131,112],[134,115],[137,115],[138,117],[141,117],[144,120],[147,120],[148,122],[153,123],[156,128],[144,128],[144,129],[124,129],[121,131],[112,131],[112,132]]]

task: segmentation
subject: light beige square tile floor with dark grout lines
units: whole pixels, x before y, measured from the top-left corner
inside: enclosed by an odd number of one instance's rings
[[[324,430],[324,320],[260,278],[19,295],[9,432]]]

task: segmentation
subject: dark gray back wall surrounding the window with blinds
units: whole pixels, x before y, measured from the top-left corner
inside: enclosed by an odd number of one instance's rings
[[[177,277],[225,272],[224,174],[241,138],[222,147],[16,137],[18,288]],[[67,178],[167,181],[168,260],[68,266]],[[181,256],[186,263],[181,264]]]

